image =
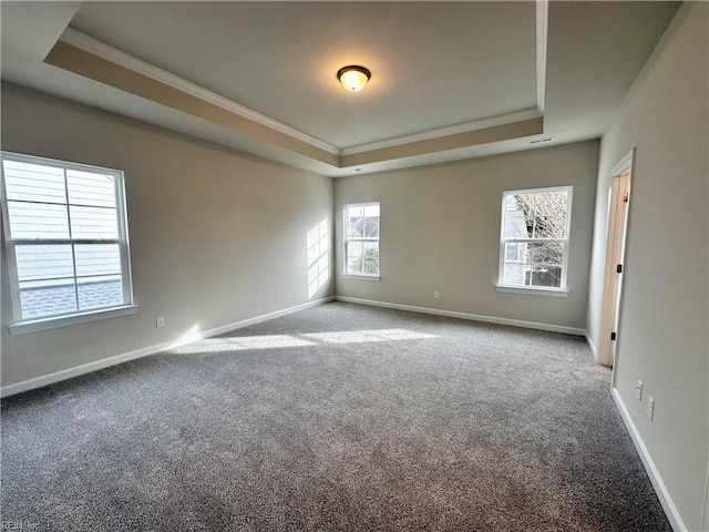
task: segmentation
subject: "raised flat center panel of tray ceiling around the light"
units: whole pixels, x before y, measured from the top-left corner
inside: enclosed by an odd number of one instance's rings
[[[92,2],[71,25],[352,147],[533,108],[534,13],[533,2]],[[352,63],[373,73],[357,94],[336,79]]]

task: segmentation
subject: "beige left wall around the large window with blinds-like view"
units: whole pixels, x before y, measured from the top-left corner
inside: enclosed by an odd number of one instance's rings
[[[332,294],[308,294],[307,234],[332,182],[11,84],[2,149],[125,173],[134,316],[18,337],[2,264],[2,385],[176,340]],[[164,316],[165,328],[155,328]]]

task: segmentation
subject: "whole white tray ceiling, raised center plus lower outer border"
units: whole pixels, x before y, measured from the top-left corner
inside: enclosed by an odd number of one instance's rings
[[[545,3],[532,1],[2,1],[1,75],[342,176],[358,168],[373,172],[526,150],[548,145],[530,144],[546,136],[555,143],[599,137],[677,7],[553,1],[547,13]],[[173,84],[216,98],[223,108],[333,156],[413,146],[414,141],[532,116],[544,116],[544,131],[405,155],[392,152],[339,167],[294,151],[287,142],[210,122],[43,62],[62,34],[66,42],[89,42],[92,52],[102,50],[103,57],[120,57],[127,61],[123,64],[138,64]],[[350,63],[372,71],[360,93],[346,92],[336,80],[337,70]]]

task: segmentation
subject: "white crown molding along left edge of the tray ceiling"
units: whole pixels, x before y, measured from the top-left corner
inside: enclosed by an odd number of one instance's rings
[[[331,144],[328,144],[327,142],[322,142],[318,139],[315,139],[314,136],[302,133],[301,131],[282,124],[277,120],[271,119],[270,116],[266,116],[265,114],[236,103],[228,98],[204,89],[196,83],[192,83],[184,78],[179,78],[178,75],[157,68],[154,64],[147,63],[134,55],[131,55],[130,53],[119,50],[117,48],[106,44],[105,42],[94,39],[93,37],[86,35],[85,33],[82,33],[81,31],[78,31],[71,27],[68,27],[64,30],[59,40],[65,42],[66,44],[71,44],[72,47],[79,48],[84,52],[91,53],[114,64],[123,66],[124,69],[129,69],[133,72],[150,78],[151,80],[155,80],[168,86],[172,86],[173,89],[184,92],[185,94],[189,94],[191,96],[195,96],[199,100],[217,105],[234,114],[251,120],[258,124],[265,125],[266,127],[270,127],[271,130],[278,131],[279,133],[284,133],[285,135],[288,135],[292,139],[297,139],[298,141],[305,142],[306,144],[315,146],[332,155],[340,155],[340,150]]]

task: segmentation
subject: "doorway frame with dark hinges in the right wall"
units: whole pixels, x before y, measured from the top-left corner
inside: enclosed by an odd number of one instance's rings
[[[635,161],[635,149],[630,150],[612,171],[608,191],[608,234],[604,267],[603,298],[600,307],[600,336],[598,339],[598,364],[615,365],[618,341],[618,316],[623,289],[625,243],[630,206],[630,180]],[[612,339],[612,334],[614,339]]]

